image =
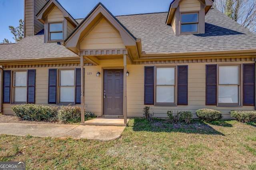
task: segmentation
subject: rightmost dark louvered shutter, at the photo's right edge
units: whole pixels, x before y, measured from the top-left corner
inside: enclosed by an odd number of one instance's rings
[[[243,64],[243,105],[254,106],[254,64]]]

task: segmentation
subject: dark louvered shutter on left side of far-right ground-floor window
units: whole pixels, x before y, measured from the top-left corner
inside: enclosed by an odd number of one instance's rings
[[[206,65],[206,105],[217,105],[217,65]]]

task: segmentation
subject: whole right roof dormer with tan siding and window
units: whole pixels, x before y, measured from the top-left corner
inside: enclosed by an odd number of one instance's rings
[[[212,7],[212,0],[173,0],[166,24],[175,35],[197,34],[205,31],[205,15]]]

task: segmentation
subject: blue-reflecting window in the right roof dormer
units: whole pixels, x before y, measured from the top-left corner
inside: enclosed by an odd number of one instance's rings
[[[181,14],[181,33],[198,33],[198,13]]]

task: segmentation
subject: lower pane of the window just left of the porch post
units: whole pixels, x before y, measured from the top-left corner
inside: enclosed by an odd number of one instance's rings
[[[60,102],[75,102],[75,88],[60,87]]]

